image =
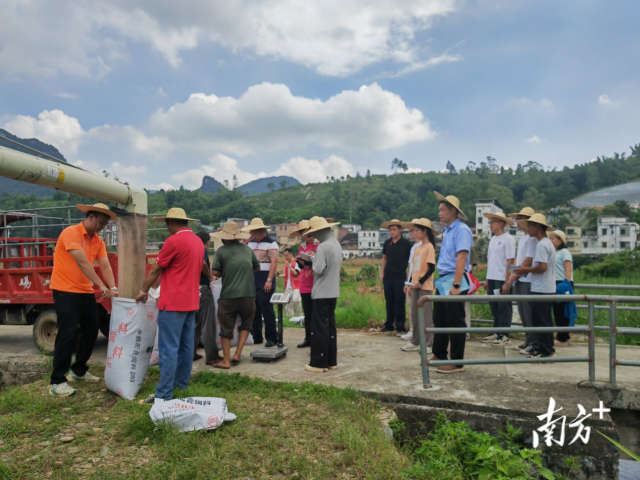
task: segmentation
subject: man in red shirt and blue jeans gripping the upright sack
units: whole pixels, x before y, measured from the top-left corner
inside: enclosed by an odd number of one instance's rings
[[[196,311],[200,306],[200,273],[202,240],[193,234],[181,208],[171,208],[164,217],[171,234],[164,242],[155,265],[136,297],[136,302],[146,302],[149,288],[160,277],[160,298],[158,299],[158,351],[160,354],[160,382],[156,393],[149,395],[143,403],[171,400],[173,389],[189,386],[193,364],[193,337]]]

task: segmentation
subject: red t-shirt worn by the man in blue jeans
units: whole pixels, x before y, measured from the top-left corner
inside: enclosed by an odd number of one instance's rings
[[[167,238],[156,259],[163,268],[158,301],[160,310],[198,310],[202,262],[202,240],[190,228],[183,228]]]

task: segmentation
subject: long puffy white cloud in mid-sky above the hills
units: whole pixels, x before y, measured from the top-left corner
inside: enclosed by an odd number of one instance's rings
[[[195,93],[158,110],[150,129],[182,148],[235,155],[311,144],[383,150],[436,135],[422,112],[377,83],[326,101],[294,96],[286,85],[271,83],[254,85],[239,98]]]

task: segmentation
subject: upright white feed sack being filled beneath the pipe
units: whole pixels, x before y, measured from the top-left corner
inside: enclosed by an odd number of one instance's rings
[[[149,368],[158,326],[158,304],[133,299],[112,300],[104,382],[109,390],[133,400]]]

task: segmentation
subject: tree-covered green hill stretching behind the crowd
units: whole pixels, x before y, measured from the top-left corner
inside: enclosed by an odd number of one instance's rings
[[[259,195],[223,191],[203,194],[185,189],[159,191],[149,196],[149,211],[164,212],[179,206],[205,224],[228,217],[261,216],[265,222],[295,222],[313,215],[334,217],[340,222],[377,227],[390,218],[437,219],[433,191],[455,195],[462,209],[473,218],[478,198],[496,198],[507,212],[527,205],[547,210],[602,188],[640,180],[640,145],[632,154],[598,157],[596,161],[562,170],[545,170],[529,162],[513,169],[501,169],[495,159],[479,165],[469,163],[450,173],[367,175],[330,183],[296,185]],[[29,208],[50,203],[70,204],[79,197],[56,192],[51,199],[20,195],[0,196],[0,208]]]

